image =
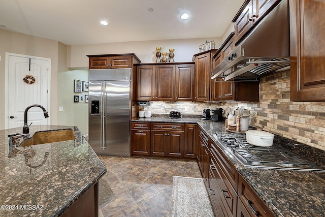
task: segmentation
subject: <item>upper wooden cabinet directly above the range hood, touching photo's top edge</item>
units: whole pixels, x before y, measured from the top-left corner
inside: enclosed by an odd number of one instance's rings
[[[267,15],[281,0],[247,0],[232,22],[235,23],[235,43],[237,44],[254,25]]]

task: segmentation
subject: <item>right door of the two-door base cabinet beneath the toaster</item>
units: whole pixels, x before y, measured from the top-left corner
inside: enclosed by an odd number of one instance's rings
[[[168,156],[184,157],[184,132],[167,131]]]

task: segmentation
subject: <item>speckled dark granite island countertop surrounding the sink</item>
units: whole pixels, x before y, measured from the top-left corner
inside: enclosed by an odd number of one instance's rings
[[[0,216],[59,216],[106,173],[77,127],[31,126],[30,136],[59,129],[76,139],[10,150],[8,134],[22,128],[0,131]]]

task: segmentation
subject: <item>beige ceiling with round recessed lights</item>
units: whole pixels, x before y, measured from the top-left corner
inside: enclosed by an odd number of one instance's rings
[[[244,0],[1,0],[1,29],[66,45],[217,38]],[[149,8],[153,11],[149,12]],[[180,14],[187,12],[188,20]],[[109,25],[103,26],[105,19]]]

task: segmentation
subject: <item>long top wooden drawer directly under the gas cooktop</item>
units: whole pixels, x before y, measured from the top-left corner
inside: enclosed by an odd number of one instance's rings
[[[228,159],[223,157],[221,150],[217,148],[216,144],[211,143],[210,152],[212,157],[214,157],[217,161],[217,164],[220,166],[221,170],[224,172],[226,178],[233,185],[233,188],[237,189],[239,175],[235,167],[228,161]]]

